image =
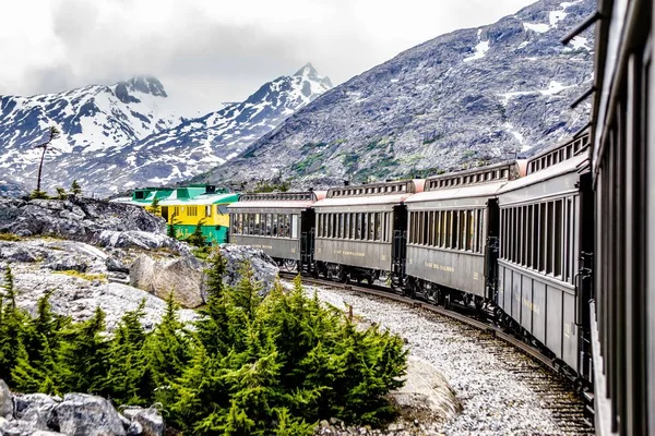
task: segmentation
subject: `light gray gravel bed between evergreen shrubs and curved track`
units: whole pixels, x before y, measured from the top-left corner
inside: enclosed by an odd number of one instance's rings
[[[460,413],[444,414],[440,413],[440,408],[448,402],[424,402],[421,407],[414,404],[409,414],[404,413],[386,429],[342,429],[338,425],[325,425],[318,428],[317,434],[593,434],[577,416],[582,411],[579,400],[562,387],[561,382],[504,342],[485,338],[472,327],[406,304],[342,289],[308,288],[308,292],[314,291],[322,301],[336,307],[352,305],[360,319],[376,323],[403,337],[410,356],[436,368],[444,380],[442,389],[452,387],[462,405]],[[558,416],[552,407],[561,401],[571,403],[564,416]],[[420,414],[418,411],[421,409],[437,412]],[[577,409],[580,411],[575,412]],[[446,419],[443,420],[443,416]]]

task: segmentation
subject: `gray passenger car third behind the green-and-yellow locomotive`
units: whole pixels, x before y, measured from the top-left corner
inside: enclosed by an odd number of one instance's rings
[[[488,244],[498,237],[497,192],[519,178],[515,161],[430,178],[408,198],[406,283],[413,295],[439,303],[451,298],[480,306],[491,294]],[[491,261],[491,262],[489,262]],[[453,290],[460,293],[452,292]]]

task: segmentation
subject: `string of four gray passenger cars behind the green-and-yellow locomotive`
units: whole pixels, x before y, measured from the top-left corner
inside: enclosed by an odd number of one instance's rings
[[[579,274],[593,250],[588,150],[584,133],[527,161],[245,194],[228,206],[230,242],[305,275],[491,313],[591,391],[591,288]]]

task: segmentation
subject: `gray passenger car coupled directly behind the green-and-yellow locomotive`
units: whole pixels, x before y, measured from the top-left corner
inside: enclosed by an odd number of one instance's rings
[[[313,204],[324,192],[241,194],[228,206],[230,242],[263,250],[281,266],[313,264]]]

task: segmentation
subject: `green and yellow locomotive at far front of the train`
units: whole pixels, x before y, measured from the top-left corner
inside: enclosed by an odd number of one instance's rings
[[[153,199],[158,201],[158,210],[153,210]],[[179,239],[188,238],[198,223],[202,234],[211,244],[227,242],[229,215],[227,205],[235,203],[238,194],[212,185],[190,185],[177,189],[145,187],[135,190],[129,203],[145,207],[166,219]]]

